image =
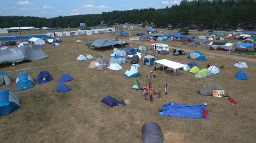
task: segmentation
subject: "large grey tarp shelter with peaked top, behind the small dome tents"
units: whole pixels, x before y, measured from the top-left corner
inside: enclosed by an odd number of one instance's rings
[[[95,40],[91,46],[97,48],[110,47],[110,46],[121,46],[121,40],[111,40],[111,39],[97,39]],[[123,41],[123,45],[128,45],[125,41]]]

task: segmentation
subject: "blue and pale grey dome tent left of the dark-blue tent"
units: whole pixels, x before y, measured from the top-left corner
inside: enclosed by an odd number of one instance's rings
[[[33,88],[34,86],[35,86],[35,80],[29,73],[21,72],[18,74],[16,79],[17,91]]]

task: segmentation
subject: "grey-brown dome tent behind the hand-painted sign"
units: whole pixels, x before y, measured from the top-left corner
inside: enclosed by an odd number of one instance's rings
[[[203,86],[199,89],[201,95],[213,96],[213,90],[225,90],[221,85],[217,83],[209,83],[207,86]],[[225,90],[225,95],[228,95],[228,92]]]

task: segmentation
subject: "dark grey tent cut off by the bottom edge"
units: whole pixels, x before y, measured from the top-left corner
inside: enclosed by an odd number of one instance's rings
[[[141,128],[143,143],[163,143],[160,126],[155,122],[147,122]]]

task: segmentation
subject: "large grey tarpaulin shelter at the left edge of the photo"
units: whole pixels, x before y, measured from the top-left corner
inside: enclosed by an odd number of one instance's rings
[[[0,52],[0,64],[19,63],[25,60],[36,61],[49,57],[39,45],[5,49]]]

